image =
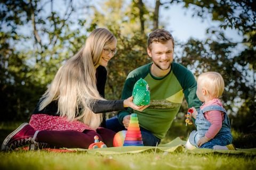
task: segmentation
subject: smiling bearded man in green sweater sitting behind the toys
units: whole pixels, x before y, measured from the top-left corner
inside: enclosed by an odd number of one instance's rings
[[[194,75],[181,64],[173,62],[174,39],[169,31],[157,29],[150,33],[147,53],[153,63],[143,65],[129,73],[124,84],[122,99],[132,95],[133,86],[140,78],[150,88],[150,106],[143,111],[127,109],[117,118],[107,121],[107,128],[120,131],[127,129],[131,113],[137,113],[144,146],[156,146],[169,130],[179,112],[183,97],[188,107],[199,108]],[[115,125],[114,125],[115,124]],[[123,128],[123,129],[122,129]]]

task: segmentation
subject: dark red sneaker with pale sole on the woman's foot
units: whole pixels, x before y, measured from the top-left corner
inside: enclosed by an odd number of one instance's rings
[[[23,123],[4,139],[1,150],[8,151],[21,146],[36,144],[36,135],[34,128],[28,123]]]

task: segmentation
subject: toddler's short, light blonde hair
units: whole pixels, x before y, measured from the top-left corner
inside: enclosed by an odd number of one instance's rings
[[[212,98],[220,98],[225,88],[224,80],[217,72],[206,72],[199,75],[197,84],[205,88]]]

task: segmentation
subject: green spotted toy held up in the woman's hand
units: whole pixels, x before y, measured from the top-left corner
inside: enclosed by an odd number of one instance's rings
[[[150,103],[150,89],[147,81],[140,78],[133,87],[132,91],[133,103],[137,106],[149,105]]]

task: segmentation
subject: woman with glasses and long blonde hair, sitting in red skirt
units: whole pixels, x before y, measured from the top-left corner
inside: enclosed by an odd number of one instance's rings
[[[113,146],[115,132],[105,127],[103,113],[136,106],[133,98],[106,100],[106,66],[116,54],[117,39],[104,28],[91,32],[85,46],[60,67],[49,88],[39,100],[30,122],[9,134],[1,150],[20,146],[88,148],[94,136]]]

